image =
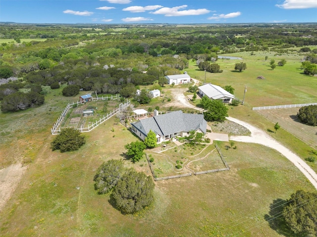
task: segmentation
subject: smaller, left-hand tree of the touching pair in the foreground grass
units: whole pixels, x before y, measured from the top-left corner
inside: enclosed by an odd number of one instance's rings
[[[103,162],[94,177],[94,187],[98,194],[110,193],[118,183],[125,169],[121,159],[110,159]]]

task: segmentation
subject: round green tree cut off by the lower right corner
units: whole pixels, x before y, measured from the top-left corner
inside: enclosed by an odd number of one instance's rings
[[[286,201],[283,217],[287,226],[297,235],[317,236],[317,193],[302,190]]]

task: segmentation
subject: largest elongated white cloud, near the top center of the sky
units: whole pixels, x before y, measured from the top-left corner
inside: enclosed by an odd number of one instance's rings
[[[206,8],[179,11],[179,9],[186,8],[186,7],[187,5],[181,5],[181,6],[175,6],[175,7],[163,7],[151,13],[162,14],[164,16],[192,16],[192,15],[203,15],[210,12],[210,10]]]

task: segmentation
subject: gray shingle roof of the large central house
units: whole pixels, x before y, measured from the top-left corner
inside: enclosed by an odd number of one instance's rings
[[[161,136],[174,134],[181,131],[196,131],[201,129],[206,133],[207,121],[204,115],[184,114],[182,111],[175,111],[131,123],[147,136],[150,130]]]

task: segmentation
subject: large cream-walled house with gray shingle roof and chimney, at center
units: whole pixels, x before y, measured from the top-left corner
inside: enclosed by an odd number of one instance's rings
[[[206,133],[207,121],[204,115],[184,114],[182,111],[175,111],[158,115],[154,111],[154,117],[141,119],[131,123],[132,131],[143,141],[150,130],[157,136],[157,143],[168,141],[173,137],[186,137],[190,131]]]

